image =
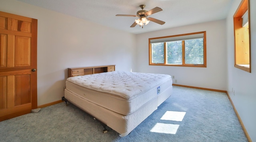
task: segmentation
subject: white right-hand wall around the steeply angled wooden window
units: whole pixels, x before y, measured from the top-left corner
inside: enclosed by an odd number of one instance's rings
[[[253,142],[256,142],[256,0],[250,0],[251,73],[234,67],[233,15],[241,0],[234,0],[226,20],[227,91]],[[232,92],[232,88],[233,91]]]

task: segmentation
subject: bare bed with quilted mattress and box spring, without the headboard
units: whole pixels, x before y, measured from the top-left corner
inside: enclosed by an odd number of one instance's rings
[[[69,77],[64,99],[123,137],[171,94],[170,75],[111,71]]]

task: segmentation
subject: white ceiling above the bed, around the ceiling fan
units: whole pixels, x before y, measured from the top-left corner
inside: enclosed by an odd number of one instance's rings
[[[63,14],[82,18],[108,27],[133,34],[151,32],[178,26],[225,19],[233,0],[18,0],[54,10]],[[116,16],[116,14],[136,15],[140,5],[144,10],[155,7],[163,11],[148,17],[166,22],[164,25],[150,22],[143,29],[130,26],[137,17]]]

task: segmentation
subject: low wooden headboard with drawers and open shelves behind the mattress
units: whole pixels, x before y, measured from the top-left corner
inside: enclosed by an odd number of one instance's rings
[[[115,71],[115,66],[116,65],[102,65],[102,66],[93,66],[93,67],[68,68],[68,77]]]

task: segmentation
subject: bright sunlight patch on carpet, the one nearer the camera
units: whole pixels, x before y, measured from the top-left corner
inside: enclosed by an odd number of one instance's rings
[[[156,125],[150,130],[150,132],[176,134],[179,126],[180,125],[178,124],[156,123]]]

